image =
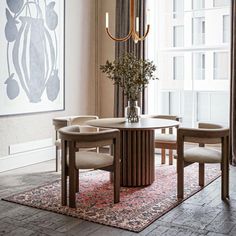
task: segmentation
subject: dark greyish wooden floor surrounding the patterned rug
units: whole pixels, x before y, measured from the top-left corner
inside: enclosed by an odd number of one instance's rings
[[[57,179],[53,168],[50,161],[1,173],[0,197]],[[139,234],[0,201],[0,235],[236,235],[236,167],[231,167],[230,178],[228,203],[220,199],[218,179]]]

